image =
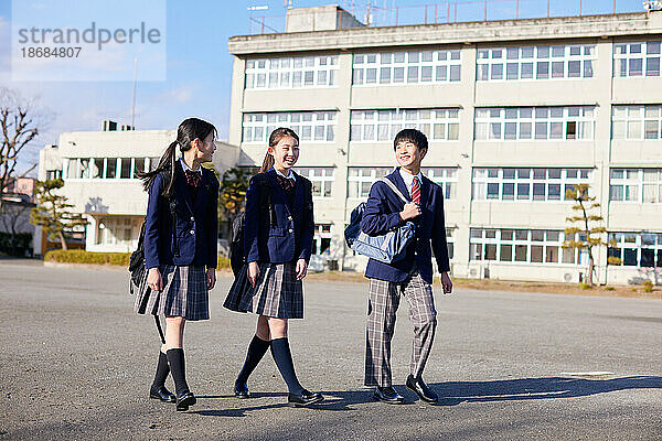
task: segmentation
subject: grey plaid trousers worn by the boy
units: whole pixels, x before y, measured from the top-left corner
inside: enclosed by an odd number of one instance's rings
[[[414,324],[410,374],[418,377],[433,348],[437,311],[433,287],[423,280],[418,271],[402,283],[370,279],[367,301],[367,332],[365,342],[365,385],[387,387],[391,378],[391,340],[395,330],[395,316],[399,297],[409,303],[409,320]]]

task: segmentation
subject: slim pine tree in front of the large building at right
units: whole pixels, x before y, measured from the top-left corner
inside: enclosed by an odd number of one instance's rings
[[[588,195],[588,184],[575,184],[572,189],[566,190],[566,200],[575,201],[573,209],[577,215],[566,217],[569,224],[575,224],[565,228],[566,240],[563,244],[564,248],[573,248],[579,251],[586,249],[588,254],[588,270],[586,272],[586,283],[592,286],[592,276],[595,272],[594,249],[609,245],[602,237],[607,229],[601,226],[604,217],[597,214],[591,214],[592,211],[600,207],[600,204],[595,202],[595,196]],[[577,225],[578,224],[578,225]],[[575,237],[578,238],[575,239]],[[568,239],[567,237],[573,237]]]

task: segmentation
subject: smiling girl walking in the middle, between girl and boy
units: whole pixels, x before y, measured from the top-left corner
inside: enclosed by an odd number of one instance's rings
[[[297,379],[287,337],[288,320],[303,318],[302,279],[314,230],[312,184],[291,170],[298,159],[297,133],[288,128],[274,130],[260,173],[253,176],[246,192],[246,265],[225,300],[231,311],[258,315],[244,367],[235,380],[235,395],[250,396],[248,376],[270,348],[289,390],[288,405],[297,407],[323,399]]]

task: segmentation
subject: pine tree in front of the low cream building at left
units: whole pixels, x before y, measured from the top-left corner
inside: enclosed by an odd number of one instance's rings
[[[72,213],[74,205],[66,202],[66,196],[56,194],[56,190],[63,185],[64,181],[61,179],[36,182],[36,207],[30,213],[30,223],[41,226],[46,237],[56,235],[62,249],[66,250],[66,235],[87,222],[82,215]]]

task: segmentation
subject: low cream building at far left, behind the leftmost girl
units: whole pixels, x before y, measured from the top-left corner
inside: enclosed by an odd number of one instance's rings
[[[40,151],[39,179],[62,178],[62,194],[88,220],[81,232],[86,250],[136,249],[147,212],[147,193],[136,172],[153,169],[175,138],[177,130],[117,130],[104,121],[102,131],[62,133],[57,146]],[[216,146],[214,166],[223,173],[236,163],[238,148]]]

